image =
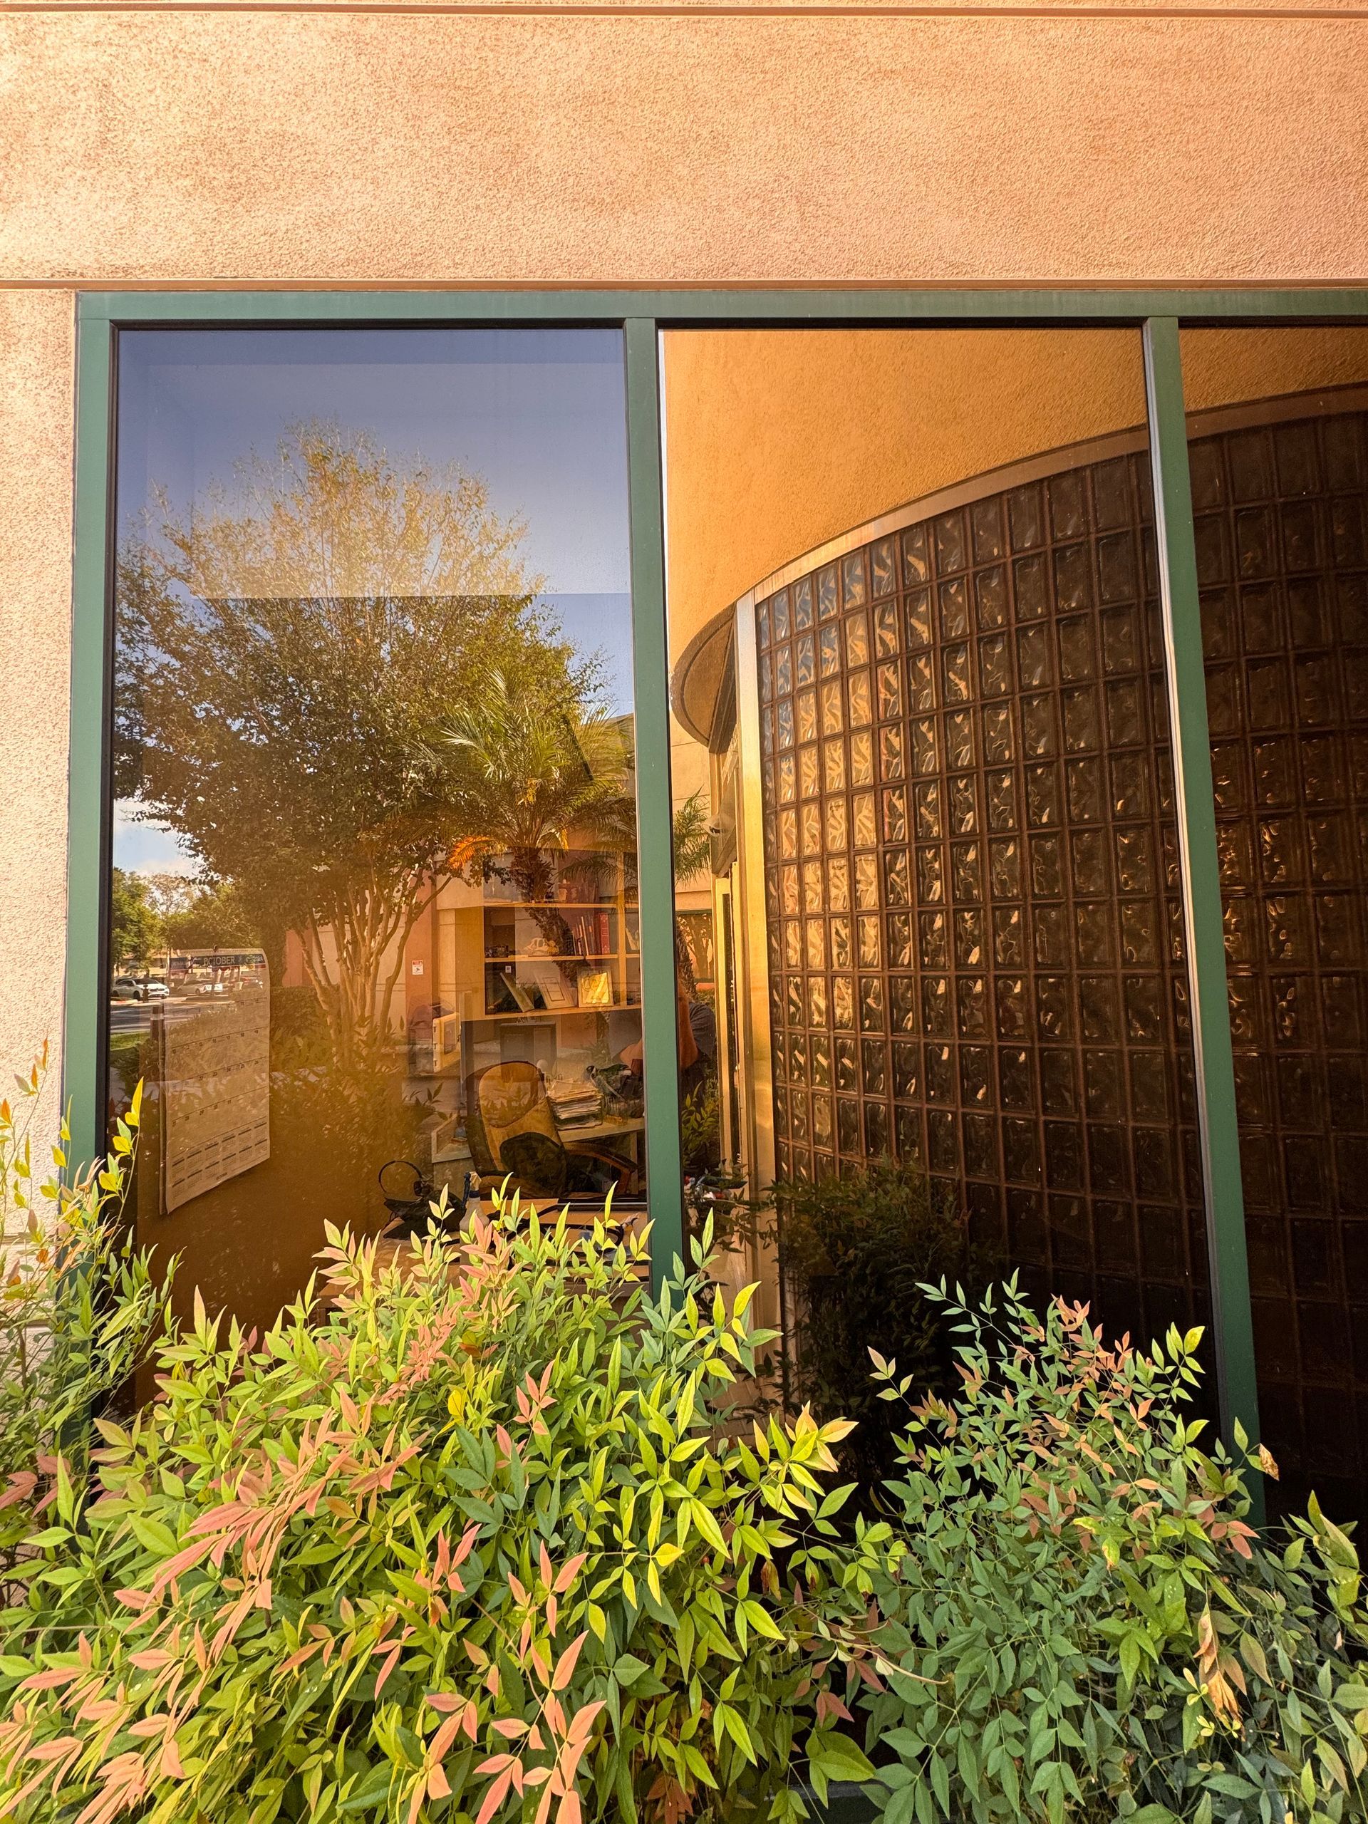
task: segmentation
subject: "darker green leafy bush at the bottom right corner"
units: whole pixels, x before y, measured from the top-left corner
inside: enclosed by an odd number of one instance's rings
[[[1253,1534],[1242,1470],[1182,1415],[1200,1332],[1145,1353],[1014,1284],[927,1295],[961,1390],[910,1406],[896,1519],[845,1570],[846,1647],[886,1678],[863,1696],[885,1824],[1363,1817],[1357,1556],[1315,1507],[1284,1552]]]

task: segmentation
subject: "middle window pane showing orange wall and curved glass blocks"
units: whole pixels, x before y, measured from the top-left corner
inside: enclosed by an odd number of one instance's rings
[[[868,1346],[948,1368],[919,1280],[1207,1317],[1140,337],[679,332],[664,376],[689,1206],[872,1477]]]

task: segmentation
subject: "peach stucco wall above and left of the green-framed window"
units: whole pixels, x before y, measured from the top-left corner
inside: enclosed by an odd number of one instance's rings
[[[1368,22],[1249,11],[0,7],[0,1060],[60,1031],[80,286],[1363,281]]]

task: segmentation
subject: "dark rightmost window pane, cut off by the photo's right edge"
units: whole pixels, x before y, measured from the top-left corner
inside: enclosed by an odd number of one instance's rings
[[[1368,1516],[1368,332],[1184,334],[1275,1510]]]

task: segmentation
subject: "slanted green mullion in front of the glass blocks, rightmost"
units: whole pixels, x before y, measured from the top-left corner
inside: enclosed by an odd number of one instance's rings
[[[1144,341],[1220,1430],[1229,1437],[1238,1419],[1255,1439],[1259,1395],[1178,319],[1149,317]]]

